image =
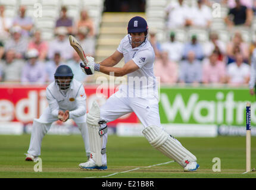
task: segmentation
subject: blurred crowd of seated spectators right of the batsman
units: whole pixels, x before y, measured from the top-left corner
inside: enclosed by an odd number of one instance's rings
[[[222,42],[218,33],[209,30],[213,21],[212,4],[219,2],[228,8],[223,23],[230,33],[229,42]],[[256,1],[197,0],[188,7],[183,0],[172,2],[166,7],[168,41],[159,43],[156,31],[150,31],[149,40],[155,52],[155,75],[161,83],[230,84],[247,85],[255,42],[245,42],[239,31],[241,27],[251,29]],[[207,42],[200,42],[198,34],[192,34],[188,42],[176,40],[176,28],[197,27],[209,33]],[[238,30],[235,30],[238,29]]]

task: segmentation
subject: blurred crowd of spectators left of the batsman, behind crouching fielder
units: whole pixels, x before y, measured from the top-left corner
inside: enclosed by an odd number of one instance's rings
[[[19,14],[12,19],[5,17],[4,12],[4,5],[0,5],[0,82],[51,83],[61,64],[69,65],[77,80],[87,80],[80,69],[80,58],[68,40],[68,34],[73,34],[86,56],[95,55],[94,23],[86,9],[80,12],[79,20],[73,20],[67,16],[67,7],[61,7],[55,37],[49,41],[42,39],[42,31],[36,29],[32,17],[26,16],[26,6],[20,5]]]

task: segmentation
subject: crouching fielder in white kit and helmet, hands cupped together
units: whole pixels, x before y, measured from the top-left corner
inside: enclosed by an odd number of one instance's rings
[[[42,139],[55,121],[73,119],[82,133],[86,156],[90,156],[88,128],[86,125],[86,94],[83,84],[73,78],[67,65],[60,65],[55,71],[55,81],[46,88],[48,107],[39,119],[33,120],[32,134],[26,161],[40,156]]]

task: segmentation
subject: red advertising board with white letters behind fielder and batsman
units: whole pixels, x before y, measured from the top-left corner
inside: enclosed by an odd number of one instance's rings
[[[100,106],[103,105],[115,90],[108,88],[107,96],[104,96],[103,93],[98,93],[97,87],[97,85],[85,86],[87,110],[90,109],[94,100]],[[0,122],[20,121],[29,123],[34,118],[39,118],[48,106],[45,88],[46,85],[0,85]],[[135,113],[129,113],[109,124],[114,125],[118,122],[137,123],[138,121]]]

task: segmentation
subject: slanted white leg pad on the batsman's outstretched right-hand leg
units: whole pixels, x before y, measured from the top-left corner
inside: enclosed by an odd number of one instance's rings
[[[157,148],[157,150],[176,161],[180,166],[185,167],[188,163],[196,162],[196,157],[162,128],[152,125],[143,129],[142,133],[152,147]]]

